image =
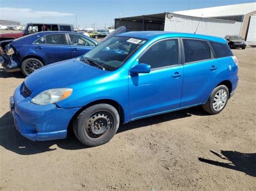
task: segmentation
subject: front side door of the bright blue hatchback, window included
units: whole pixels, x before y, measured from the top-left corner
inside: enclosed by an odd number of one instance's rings
[[[180,41],[160,40],[138,59],[151,66],[147,74],[129,75],[131,118],[141,118],[180,107],[183,86]]]

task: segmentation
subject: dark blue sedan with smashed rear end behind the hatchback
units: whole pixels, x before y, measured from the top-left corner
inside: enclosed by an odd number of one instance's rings
[[[1,41],[0,61],[5,70],[21,69],[27,76],[50,63],[83,55],[98,44],[93,38],[77,32],[38,32],[15,40]]]

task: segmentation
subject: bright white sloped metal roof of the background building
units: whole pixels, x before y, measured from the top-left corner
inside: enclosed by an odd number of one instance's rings
[[[246,15],[247,13],[256,11],[256,3],[242,3],[225,6],[214,6],[211,8],[192,9],[186,11],[174,11],[180,15],[194,16],[194,17],[220,17],[220,16],[234,16]]]

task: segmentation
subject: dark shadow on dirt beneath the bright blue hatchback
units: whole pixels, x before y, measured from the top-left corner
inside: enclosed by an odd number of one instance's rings
[[[120,125],[117,133],[122,133],[124,131],[142,128],[157,123],[163,123],[166,121],[172,121],[174,119],[190,117],[192,115],[204,116],[207,114],[200,107],[171,112]],[[57,147],[65,150],[79,150],[87,148],[77,140],[72,131],[68,133],[66,139],[51,140],[46,142],[32,142],[31,140],[24,138],[15,129],[14,120],[10,112],[7,112],[0,118],[0,146],[4,147],[6,150],[21,155],[30,155],[56,150],[57,148],[54,145],[57,145]]]

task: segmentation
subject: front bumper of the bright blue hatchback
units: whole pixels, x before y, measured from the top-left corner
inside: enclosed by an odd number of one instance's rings
[[[10,108],[21,135],[33,141],[66,138],[69,122],[80,108],[56,108],[53,104],[36,105],[30,101],[31,97],[23,97],[22,85],[19,86]]]

